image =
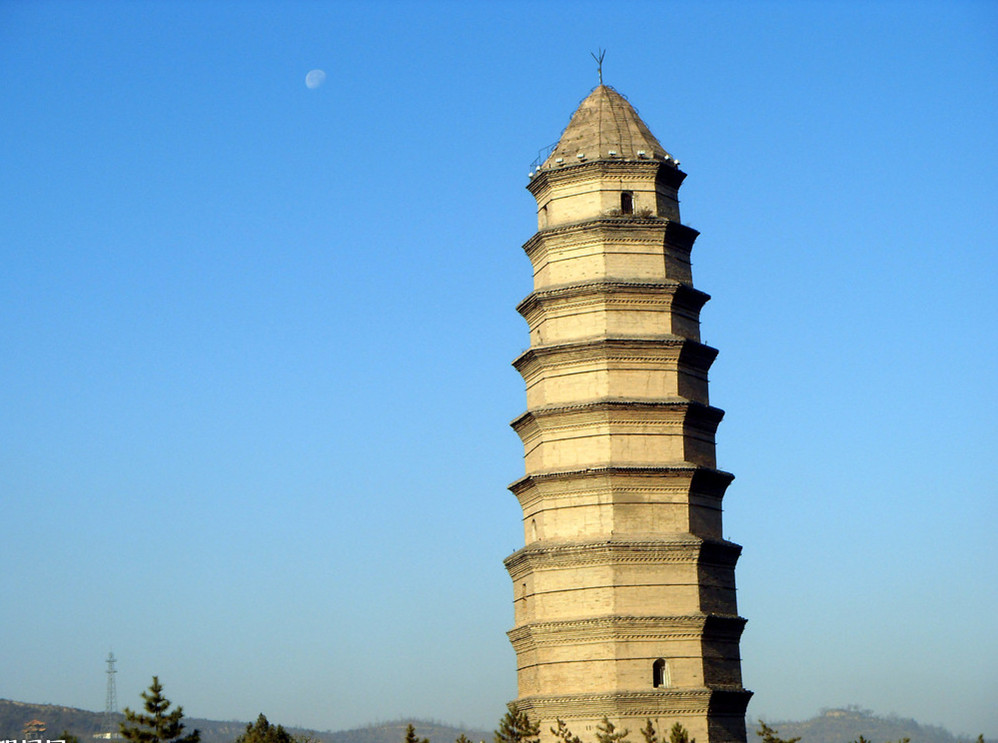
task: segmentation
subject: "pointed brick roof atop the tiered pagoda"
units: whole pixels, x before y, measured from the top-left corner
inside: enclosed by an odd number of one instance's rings
[[[645,153],[642,159],[672,159],[627,99],[609,85],[598,85],[579,104],[542,167],[571,165],[580,154],[586,160],[637,160],[639,151]]]

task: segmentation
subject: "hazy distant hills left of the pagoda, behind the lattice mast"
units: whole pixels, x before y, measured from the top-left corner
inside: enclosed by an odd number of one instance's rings
[[[46,732],[42,736],[43,740],[46,737],[49,740],[54,740],[65,730],[77,736],[81,743],[92,743],[93,735],[100,732],[102,719],[103,713],[101,712],[60,707],[54,704],[28,704],[0,699],[0,740],[21,740],[24,737],[21,733],[25,723],[30,720],[41,720],[46,726]],[[124,717],[118,715],[118,720],[123,721]],[[270,722],[274,725],[283,724],[280,720],[270,719]],[[409,723],[412,723],[416,728],[418,736],[429,738],[432,743],[453,743],[462,733],[476,743],[477,741],[492,740],[491,732],[468,727],[454,727],[431,720],[395,720],[338,732],[306,730],[287,725],[285,725],[285,729],[292,735],[311,736],[319,743],[401,743]],[[248,722],[238,720],[222,722],[195,717],[184,718],[186,730],[197,729],[201,731],[202,743],[232,743],[245,732],[247,724]]]

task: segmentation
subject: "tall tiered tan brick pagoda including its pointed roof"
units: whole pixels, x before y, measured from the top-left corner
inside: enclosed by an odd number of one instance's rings
[[[630,104],[600,85],[531,176],[534,290],[514,361],[527,412],[513,580],[517,704],[583,741],[604,716],[636,736],[682,723],[745,741],[735,602],[741,548],[722,538],[707,370],[709,298],[693,288],[685,178]]]

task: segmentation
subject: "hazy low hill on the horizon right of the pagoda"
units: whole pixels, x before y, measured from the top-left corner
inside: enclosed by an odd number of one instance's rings
[[[758,725],[749,721],[749,740]],[[890,715],[880,717],[870,710],[850,706],[842,709],[824,709],[817,717],[803,722],[790,720],[770,721],[781,738],[800,737],[801,743],[850,743],[863,736],[871,743],[897,743],[911,738],[911,743],[968,743],[976,738],[960,738],[935,725],[920,725],[911,719]]]

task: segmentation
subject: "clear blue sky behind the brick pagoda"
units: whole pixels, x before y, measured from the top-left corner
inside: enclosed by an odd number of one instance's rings
[[[750,719],[998,737],[998,4],[956,0],[0,2],[0,697],[102,709],[113,649],[122,706],[495,724],[524,187],[598,47],[689,173]]]

